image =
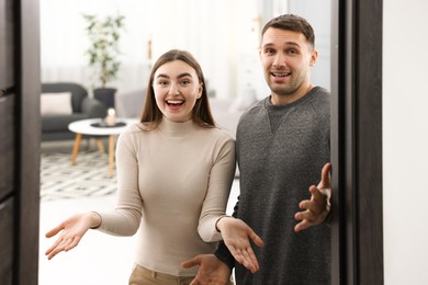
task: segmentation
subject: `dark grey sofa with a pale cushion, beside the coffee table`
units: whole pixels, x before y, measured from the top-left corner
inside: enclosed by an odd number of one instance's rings
[[[78,119],[105,117],[106,106],[89,98],[87,90],[72,82],[42,83],[42,141],[74,139],[68,124]]]

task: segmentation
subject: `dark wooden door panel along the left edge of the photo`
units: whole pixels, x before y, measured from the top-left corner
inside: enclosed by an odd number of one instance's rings
[[[38,0],[0,0],[0,285],[37,285]]]

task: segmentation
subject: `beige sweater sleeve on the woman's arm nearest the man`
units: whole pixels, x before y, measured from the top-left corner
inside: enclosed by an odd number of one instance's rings
[[[213,167],[198,226],[198,232],[205,242],[222,240],[215,224],[226,214],[235,168],[235,140],[228,138],[213,153]]]

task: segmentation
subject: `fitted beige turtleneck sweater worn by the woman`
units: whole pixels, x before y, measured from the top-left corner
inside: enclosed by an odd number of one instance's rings
[[[139,123],[140,124],[140,123]],[[99,213],[100,230],[131,236],[139,230],[135,262],[176,276],[198,269],[180,263],[211,253],[235,174],[235,141],[218,128],[162,119],[150,132],[139,124],[117,140],[117,206]]]

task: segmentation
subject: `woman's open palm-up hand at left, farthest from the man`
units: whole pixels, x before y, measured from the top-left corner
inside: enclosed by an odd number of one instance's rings
[[[88,231],[90,227],[97,227],[101,224],[101,217],[95,213],[76,214],[61,224],[46,232],[46,238],[52,238],[60,232],[60,236],[46,250],[45,255],[47,259],[54,258],[61,251],[69,251],[74,249]]]

